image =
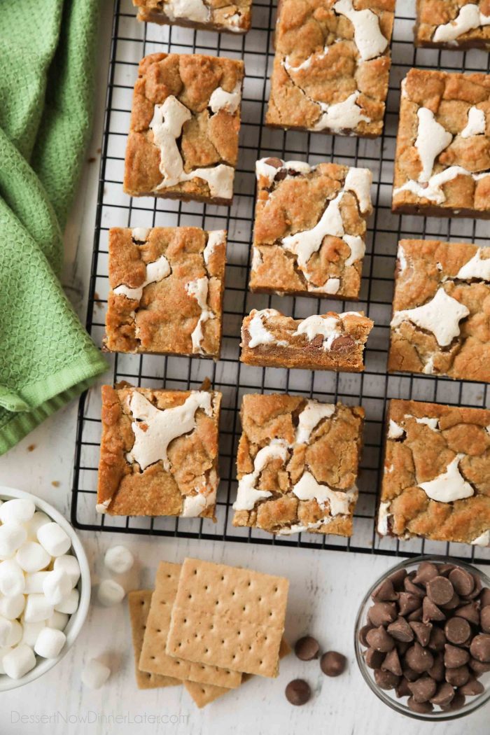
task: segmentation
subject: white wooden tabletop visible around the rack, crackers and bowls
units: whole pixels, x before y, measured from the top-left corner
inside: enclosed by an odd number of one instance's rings
[[[98,63],[96,123],[82,186],[66,233],[64,285],[84,320],[93,223],[97,196],[102,115],[106,90],[112,3],[104,4]],[[75,445],[76,405],[43,423],[26,440],[0,458],[0,484],[34,492],[69,517]],[[60,483],[55,487],[52,483]],[[291,582],[287,637],[317,637],[325,650],[336,649],[348,659],[339,678],[323,675],[317,661],[289,656],[277,680],[255,678],[199,711],[182,687],[139,691],[134,684],[129,616],[126,605],[91,606],[87,623],[65,659],[43,678],[1,696],[1,735],[488,735],[490,706],[453,723],[417,723],[395,714],[367,688],[353,657],[353,625],[362,595],[394,560],[365,554],[300,548],[274,548],[186,539],[148,539],[118,534],[81,533],[89,554],[93,584],[101,573],[101,556],[123,542],[137,558],[134,588],[151,587],[160,559],[180,562],[199,556],[227,564],[284,574]],[[112,669],[109,682],[93,692],[82,686],[84,661],[98,658]],[[306,678],[314,697],[295,708],[284,698],[292,678]]]

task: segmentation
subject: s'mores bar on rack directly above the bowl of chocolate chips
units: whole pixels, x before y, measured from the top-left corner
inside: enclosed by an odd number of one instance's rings
[[[378,533],[490,545],[490,411],[389,402]]]

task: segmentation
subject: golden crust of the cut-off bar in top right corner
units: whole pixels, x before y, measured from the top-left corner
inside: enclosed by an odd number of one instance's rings
[[[490,15],[490,0],[417,0],[415,45],[429,49],[490,49],[490,26],[479,25],[451,41],[435,41],[439,26],[453,23],[464,5],[476,5],[482,15]]]

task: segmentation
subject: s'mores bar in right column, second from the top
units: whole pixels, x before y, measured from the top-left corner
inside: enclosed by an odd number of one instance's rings
[[[490,218],[490,75],[411,69],[402,82],[393,212]]]

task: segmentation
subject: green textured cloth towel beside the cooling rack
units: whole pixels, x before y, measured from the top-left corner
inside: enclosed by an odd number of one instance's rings
[[[0,17],[0,454],[106,362],[60,286],[90,135],[99,0],[15,0]]]

